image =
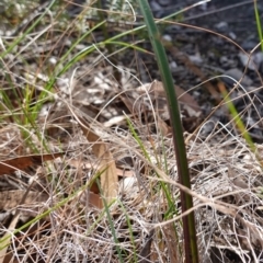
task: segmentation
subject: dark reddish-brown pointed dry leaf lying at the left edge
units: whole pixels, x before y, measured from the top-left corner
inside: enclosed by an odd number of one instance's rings
[[[16,170],[24,171],[31,165],[39,165],[43,161],[54,160],[64,156],[66,152],[47,153],[47,155],[32,155],[16,157],[9,160],[0,161],[0,175],[12,173]]]

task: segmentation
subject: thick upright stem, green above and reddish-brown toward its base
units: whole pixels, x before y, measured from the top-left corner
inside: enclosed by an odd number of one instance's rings
[[[139,0],[140,10],[149,32],[149,37],[156,54],[158,67],[161,73],[162,82],[167,92],[171,125],[173,128],[173,141],[178,161],[178,173],[180,183],[191,188],[186,150],[183,138],[183,128],[181,124],[178,99],[174,90],[172,75],[170,72],[167,55],[161,43],[161,36],[153,21],[149,3],[146,0]],[[193,207],[192,196],[181,191],[182,211]],[[185,262],[198,262],[198,250],[196,243],[196,231],[194,213],[183,218]]]

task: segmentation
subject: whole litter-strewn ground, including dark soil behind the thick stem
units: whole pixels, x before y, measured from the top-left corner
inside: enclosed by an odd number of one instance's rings
[[[194,2],[156,0],[155,4],[153,1],[151,4],[155,15],[161,18]],[[42,3],[45,8],[47,1]],[[262,3],[263,1],[258,1],[259,11],[263,8]],[[12,5],[7,12],[0,13],[4,21],[0,25],[4,47],[9,47],[12,41],[33,23],[31,13],[35,15],[34,12],[43,12],[44,9],[36,10],[36,2],[35,5],[27,8],[25,12],[22,9],[22,13],[26,15],[21,14],[18,18],[13,13],[18,10]],[[18,158],[5,162],[11,167],[22,163],[19,167],[22,173],[13,173],[12,169],[4,170],[7,165],[1,168],[1,199],[4,201],[1,203],[1,232],[5,233],[7,228],[12,228],[10,210],[20,204],[33,175],[36,183],[31,186],[24,202],[30,204],[30,207],[24,206],[21,209],[25,218],[20,220],[18,226],[23,226],[28,221],[28,217],[39,215],[39,211],[52,209],[35,228],[26,228],[18,239],[13,238],[5,262],[11,262],[10,259],[13,262],[25,262],[26,259],[27,262],[119,262],[119,259],[124,259],[124,262],[160,262],[160,259],[163,262],[182,262],[178,249],[182,242],[180,224],[158,226],[163,218],[174,218],[175,222],[179,222],[178,211],[170,210],[165,192],[162,192],[156,181],[158,173],[165,171],[169,175],[165,178],[164,174],[162,179],[170,180],[169,190],[174,198],[174,207],[179,210],[181,207],[179,190],[174,186],[178,178],[164,93],[161,84],[157,82],[151,85],[152,91],[147,95],[141,89],[137,89],[140,84],[134,77],[142,83],[160,80],[147,34],[135,34],[122,41],[134,43],[137,37],[144,39],[138,46],[148,50],[148,54],[127,49],[119,52],[108,61],[99,52],[92,53],[59,75],[52,90],[56,96],[50,95],[42,105],[42,114],[36,119],[37,127],[28,128],[26,136],[19,129],[21,124],[14,122],[15,114],[9,112],[13,106],[13,113],[19,112],[23,121],[25,116],[20,111],[24,104],[19,104],[20,96],[14,95],[14,90],[24,94],[22,91],[26,90],[26,87],[36,87],[31,102],[33,107],[41,98],[39,91],[47,87],[48,77],[53,76],[53,72],[57,73],[57,64],[62,61],[65,67],[78,52],[105,37],[102,30],[94,31],[92,37],[83,38],[72,53],[69,53],[67,59],[62,60],[75,41],[87,31],[87,27],[81,27],[82,20],[77,20],[77,23],[67,27],[69,21],[81,10],[81,7],[68,7],[62,16],[59,16],[64,23],[58,24],[50,23],[50,18],[56,18],[58,12],[54,11],[54,16],[45,16],[41,26],[8,56],[3,56],[1,61],[1,91],[7,91],[2,94],[8,94],[13,105],[1,103],[3,118],[0,129],[0,160]],[[133,27],[125,23],[119,25],[116,21],[113,23],[110,21],[112,18],[108,15],[110,26],[106,27],[110,36]],[[30,19],[30,23],[26,19]],[[87,20],[98,23],[94,18]],[[123,20],[125,22],[126,18]],[[235,104],[237,110],[242,112],[242,119],[252,138],[262,142],[263,67],[260,47],[253,52],[254,64],[247,70],[247,62],[242,61],[248,58],[245,52],[250,53],[259,42],[253,2],[214,0],[207,5],[184,12],[176,16],[175,22],[188,25],[174,23],[161,25],[160,30],[164,38],[172,43],[167,46],[167,50],[174,83],[180,87],[176,92],[187,91],[190,94],[181,100],[185,130],[194,132],[220,103],[219,83],[228,91],[233,88],[233,80],[226,76],[239,80],[244,73],[245,78],[241,85],[235,89],[231,99],[238,99]],[[92,23],[89,26],[94,26]],[[141,23],[140,19],[138,23]],[[47,25],[50,27],[44,37],[35,39]],[[31,42],[32,39],[34,42]],[[104,55],[111,54],[106,47],[100,48]],[[116,50],[118,48],[113,52]],[[111,62],[124,67],[128,73],[123,70],[116,72]],[[225,77],[219,78],[220,75]],[[206,82],[209,78],[214,79]],[[23,96],[20,99],[25,103]],[[128,129],[124,112],[135,125],[142,146],[139,146],[135,134]],[[153,118],[152,112],[158,121]],[[119,118],[113,118],[114,116]],[[87,126],[92,128],[90,135],[83,130],[82,117],[87,121]],[[24,124],[24,127],[26,129],[28,123]],[[36,133],[37,128],[39,134]],[[160,130],[164,138],[158,133]],[[185,141],[193,190],[196,194],[194,203],[202,262],[261,262],[263,215],[260,187],[263,180],[259,158],[256,160],[243,139],[237,136],[239,132],[224,105],[217,107],[214,115],[197,132],[193,137],[185,134]],[[41,152],[46,152],[43,146],[45,137],[52,152],[62,150],[67,153],[58,153],[57,157],[60,158],[54,161],[55,157],[52,155],[45,158],[36,156],[25,144],[28,137]],[[99,148],[91,146],[94,142]],[[262,147],[256,147],[262,160]],[[148,152],[150,162],[144,156],[142,149]],[[112,180],[117,176],[121,185],[117,188],[119,203],[111,207],[112,217],[102,213],[103,204],[98,188],[81,190],[92,175],[98,171],[102,172],[101,151],[107,153],[106,160],[110,160],[111,168],[114,170],[116,165],[117,169],[115,174],[112,172],[107,175],[112,176]],[[33,156],[21,158],[30,153]],[[45,163],[43,158],[49,162]],[[39,208],[31,206],[32,198]],[[60,201],[65,203],[56,207]],[[38,204],[39,202],[42,203]],[[96,209],[93,209],[93,206]],[[178,236],[174,236],[175,228]],[[114,241],[113,237],[116,237]],[[178,245],[174,245],[175,240]],[[119,245],[116,245],[116,242]]]

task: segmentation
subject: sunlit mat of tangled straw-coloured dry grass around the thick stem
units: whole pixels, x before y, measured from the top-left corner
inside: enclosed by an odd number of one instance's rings
[[[183,262],[179,190],[185,188],[176,183],[164,96],[136,89],[127,71],[119,70],[119,85],[101,53],[58,76],[85,48],[85,41],[76,45],[56,68],[84,30],[76,30],[78,19],[66,27],[45,22],[2,58],[1,89],[10,100],[1,100],[0,160],[66,153],[1,175],[0,232],[8,247],[0,240],[0,262]],[[185,133],[193,183],[185,191],[194,197],[201,262],[261,262],[262,163],[229,127],[217,124],[206,137]],[[105,174],[117,184],[103,183]],[[111,198],[110,187],[117,191]]]

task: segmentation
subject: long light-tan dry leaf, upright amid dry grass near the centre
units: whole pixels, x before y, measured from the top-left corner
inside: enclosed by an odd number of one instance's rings
[[[110,203],[117,196],[118,178],[115,161],[107,145],[89,128],[89,125],[82,118],[81,123],[84,124],[81,125],[81,128],[87,139],[93,144],[93,153],[100,160],[101,186],[104,197]]]

